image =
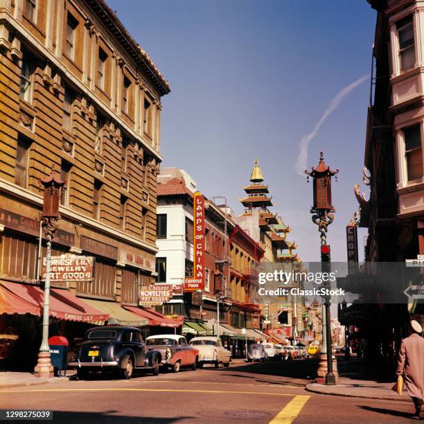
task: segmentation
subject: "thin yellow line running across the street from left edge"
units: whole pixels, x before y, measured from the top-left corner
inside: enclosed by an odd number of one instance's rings
[[[44,393],[44,392],[69,392],[69,391],[166,391],[174,393],[227,393],[227,394],[258,394],[258,395],[269,395],[269,396],[296,396],[287,393],[272,393],[266,391],[238,391],[238,390],[195,390],[195,389],[135,389],[126,387],[116,388],[100,388],[100,389],[30,389],[30,390],[14,390],[6,391],[1,390],[1,393],[12,394],[12,393]],[[306,396],[309,398],[309,396]]]

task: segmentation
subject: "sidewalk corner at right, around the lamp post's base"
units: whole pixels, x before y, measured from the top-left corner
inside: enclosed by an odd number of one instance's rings
[[[411,402],[405,387],[402,395],[391,390],[391,387],[395,384],[396,376],[387,376],[378,373],[378,371],[374,375],[370,375],[372,371],[366,369],[365,364],[355,358],[345,361],[339,357],[337,362],[339,369],[339,383],[337,385],[326,386],[313,382],[306,385],[306,390],[335,396]]]

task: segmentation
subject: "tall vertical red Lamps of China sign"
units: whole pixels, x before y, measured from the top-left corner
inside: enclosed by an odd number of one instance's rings
[[[204,288],[205,222],[204,197],[196,191],[193,197],[193,277],[184,280],[184,291],[193,292]]]

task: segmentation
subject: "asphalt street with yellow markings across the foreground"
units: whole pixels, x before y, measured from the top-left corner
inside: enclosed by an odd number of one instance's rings
[[[0,390],[1,409],[49,409],[74,423],[403,423],[412,403],[312,394],[310,360],[205,366],[131,380]]]

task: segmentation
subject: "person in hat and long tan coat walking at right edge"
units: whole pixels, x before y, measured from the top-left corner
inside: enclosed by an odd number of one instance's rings
[[[415,416],[420,418],[424,403],[424,339],[423,328],[418,321],[411,321],[409,337],[402,340],[396,374],[402,376],[409,396],[415,405]]]

